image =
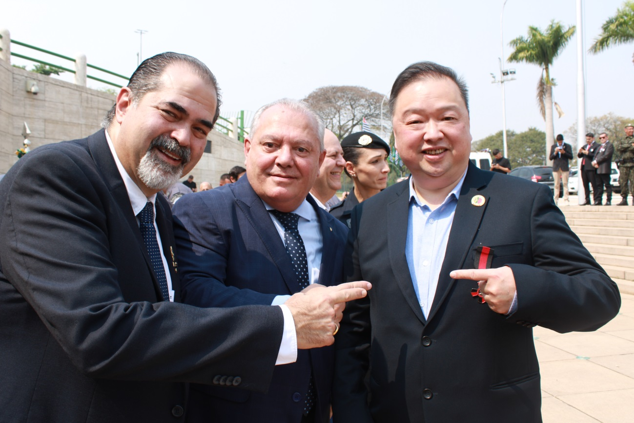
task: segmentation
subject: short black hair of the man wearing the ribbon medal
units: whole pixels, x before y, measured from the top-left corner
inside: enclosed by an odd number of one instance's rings
[[[469,113],[469,90],[467,89],[467,84],[465,81],[458,77],[455,70],[452,68],[448,68],[443,65],[439,65],[434,62],[418,62],[409,65],[403,72],[401,72],[398,77],[396,77],[396,81],[392,85],[392,91],[390,93],[390,113],[394,115],[394,105],[396,104],[396,98],[398,98],[398,94],[403,91],[403,88],[411,84],[412,82],[423,81],[425,79],[441,79],[448,78],[451,81],[455,82],[460,90],[460,96],[462,96],[462,100],[465,102],[465,107],[467,107],[467,113]]]

